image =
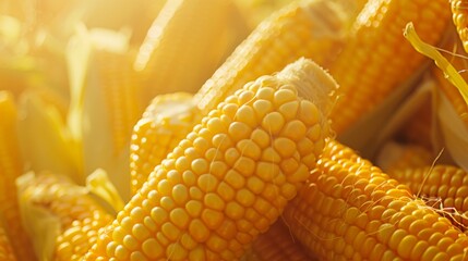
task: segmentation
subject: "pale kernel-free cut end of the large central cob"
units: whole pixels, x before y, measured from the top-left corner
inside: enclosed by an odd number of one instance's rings
[[[311,59],[300,58],[287,65],[277,77],[297,86],[298,95],[312,100],[325,115],[332,111],[339,86],[326,70]]]

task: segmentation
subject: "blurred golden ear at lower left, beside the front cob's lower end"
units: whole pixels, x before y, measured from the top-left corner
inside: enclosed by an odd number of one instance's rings
[[[111,215],[67,176],[43,172],[19,179],[22,217],[41,260],[79,260]]]

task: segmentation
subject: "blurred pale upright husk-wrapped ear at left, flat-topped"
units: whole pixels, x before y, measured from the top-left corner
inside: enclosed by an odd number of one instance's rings
[[[69,127],[81,145],[83,166],[79,184],[96,169],[104,169],[124,200],[130,197],[125,174],[132,127],[143,112],[128,38],[122,32],[80,27],[68,47]]]

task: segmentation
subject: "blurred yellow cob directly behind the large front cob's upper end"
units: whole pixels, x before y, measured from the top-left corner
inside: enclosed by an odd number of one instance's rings
[[[326,67],[344,40],[347,16],[327,0],[296,1],[262,22],[195,95],[206,115],[245,83],[304,57]]]

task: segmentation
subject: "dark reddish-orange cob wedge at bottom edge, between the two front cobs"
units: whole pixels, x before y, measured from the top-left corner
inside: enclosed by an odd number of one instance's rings
[[[261,234],[242,258],[244,261],[311,261],[281,220]]]

